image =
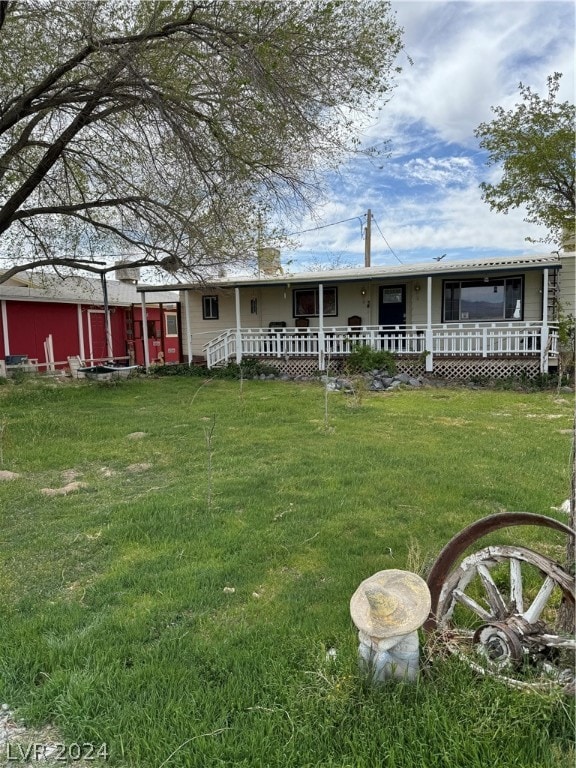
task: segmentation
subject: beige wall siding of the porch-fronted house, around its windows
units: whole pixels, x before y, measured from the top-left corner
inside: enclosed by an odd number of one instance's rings
[[[522,259],[519,260],[522,262]],[[376,326],[379,324],[380,315],[380,289],[383,286],[403,285],[406,291],[406,324],[426,325],[428,320],[428,274],[431,276],[432,310],[431,322],[438,325],[444,322],[442,316],[443,287],[447,280],[474,280],[488,276],[490,279],[507,277],[523,277],[523,306],[522,321],[527,323],[539,323],[543,319],[543,278],[544,270],[550,277],[558,271],[559,295],[562,308],[565,313],[576,313],[575,285],[576,271],[574,268],[574,254],[561,254],[560,263],[552,256],[534,258],[533,262],[524,259],[520,266],[518,262],[510,260],[510,266],[506,260],[485,260],[486,266],[475,263],[473,269],[467,269],[462,265],[460,269],[454,269],[450,263],[444,265],[407,265],[404,274],[398,268],[391,269],[390,274],[363,276],[359,269],[350,275],[350,278],[332,275],[330,272],[313,276],[314,282],[302,280],[302,275],[294,276],[294,282],[290,285],[290,275],[285,275],[282,282],[275,277],[271,284],[262,282],[253,285],[240,283],[238,290],[240,296],[240,325],[243,329],[266,329],[270,323],[284,322],[287,327],[293,327],[295,318],[293,315],[293,291],[295,289],[316,287],[320,283],[325,288],[333,286],[338,291],[338,314],[333,317],[324,317],[324,327],[346,326],[348,318],[354,315],[360,316],[360,324]],[[420,267],[422,267],[420,271]],[[408,274],[412,272],[413,274]],[[550,281],[553,286],[554,280]],[[233,285],[233,284],[232,284]],[[552,289],[551,289],[552,290]],[[202,317],[202,295],[217,295],[219,297],[219,317],[217,320],[204,320]],[[225,330],[236,327],[235,289],[228,286],[217,288],[190,287],[181,292],[181,301],[189,302],[190,328],[186,327],[186,313],[182,313],[183,338],[191,338],[191,352],[195,357],[204,356],[205,345]],[[252,300],[255,300],[257,311],[252,312]],[[551,310],[551,306],[550,306]],[[550,314],[549,321],[554,317]],[[318,318],[309,318],[310,328],[318,326]],[[187,347],[184,346],[184,355]]]

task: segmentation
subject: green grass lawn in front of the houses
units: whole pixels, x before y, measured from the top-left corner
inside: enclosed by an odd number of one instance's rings
[[[348,612],[484,515],[555,514],[570,397],[170,378],[24,382],[0,412],[0,699],[28,723],[122,767],[573,765],[561,696],[428,648],[418,684],[367,688]]]

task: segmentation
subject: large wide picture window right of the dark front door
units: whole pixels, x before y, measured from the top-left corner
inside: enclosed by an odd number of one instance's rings
[[[444,283],[444,320],[522,320],[523,279],[458,280]]]

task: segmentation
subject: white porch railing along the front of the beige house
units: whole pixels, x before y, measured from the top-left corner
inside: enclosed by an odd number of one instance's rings
[[[557,355],[556,326],[541,323],[443,323],[439,325],[365,325],[319,328],[230,328],[204,346],[209,368],[243,357],[318,357],[323,370],[328,356],[349,355],[362,344],[398,355],[424,355],[433,370],[442,357],[540,357],[541,370]]]

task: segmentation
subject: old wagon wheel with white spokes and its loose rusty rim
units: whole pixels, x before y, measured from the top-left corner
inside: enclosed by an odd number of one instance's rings
[[[468,526],[432,567],[432,608],[425,629],[482,674],[517,687],[559,685],[573,692],[576,639],[560,629],[559,614],[566,603],[574,606],[574,576],[520,546],[487,546],[459,562],[483,536],[514,525],[574,536],[563,523],[528,513],[491,515]]]

